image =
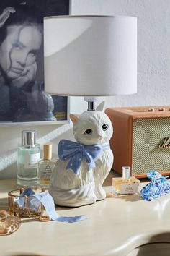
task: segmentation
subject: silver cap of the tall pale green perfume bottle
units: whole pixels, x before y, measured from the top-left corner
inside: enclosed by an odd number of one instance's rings
[[[24,130],[22,131],[22,145],[34,146],[36,143],[36,131]]]

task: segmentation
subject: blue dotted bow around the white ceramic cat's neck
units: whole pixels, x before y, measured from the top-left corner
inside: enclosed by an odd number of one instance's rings
[[[83,145],[71,140],[61,140],[58,144],[58,157],[62,161],[68,161],[66,169],[71,169],[75,174],[79,173],[81,161],[87,163],[87,170],[94,168],[95,161],[99,158],[102,150],[109,149],[109,142],[102,145]]]

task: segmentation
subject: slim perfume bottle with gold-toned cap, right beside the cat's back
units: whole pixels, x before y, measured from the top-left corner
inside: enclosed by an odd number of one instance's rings
[[[38,163],[38,184],[41,187],[49,187],[50,176],[53,172],[55,166],[55,160],[52,159],[52,145],[45,144],[43,145],[43,155],[44,158],[41,159]]]

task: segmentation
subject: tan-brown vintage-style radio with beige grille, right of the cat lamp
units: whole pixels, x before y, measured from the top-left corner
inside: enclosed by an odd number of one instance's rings
[[[107,108],[114,133],[113,169],[130,166],[137,178],[149,171],[170,174],[170,106]]]

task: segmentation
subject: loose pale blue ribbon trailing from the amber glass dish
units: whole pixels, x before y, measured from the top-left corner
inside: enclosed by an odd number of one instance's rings
[[[20,209],[25,208],[24,205],[24,197],[27,196],[28,208],[29,210],[37,211],[40,208],[40,204],[44,205],[44,208],[48,214],[48,216],[53,221],[63,221],[63,222],[76,222],[76,221],[84,221],[87,219],[86,216],[73,216],[66,217],[60,216],[55,210],[55,204],[53,197],[48,192],[41,192],[35,194],[35,192],[31,188],[24,189],[24,192],[14,199],[14,202],[19,205]]]

